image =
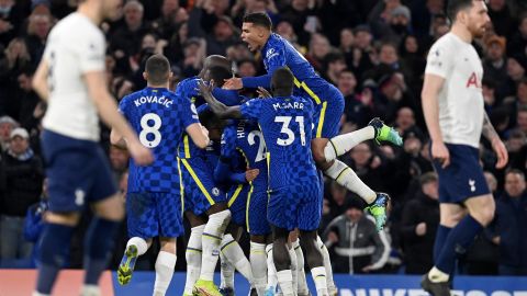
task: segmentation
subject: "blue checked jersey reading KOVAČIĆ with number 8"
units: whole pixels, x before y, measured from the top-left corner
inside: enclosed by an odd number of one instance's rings
[[[146,167],[130,160],[128,192],[179,191],[177,148],[184,129],[199,123],[194,105],[168,89],[146,88],[123,98],[119,110],[155,156]]]

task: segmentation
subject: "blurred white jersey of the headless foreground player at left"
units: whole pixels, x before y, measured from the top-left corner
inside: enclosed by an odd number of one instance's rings
[[[104,35],[87,16],[71,13],[47,38],[49,100],[44,128],[76,139],[99,140],[99,117],[82,75],[104,71]]]

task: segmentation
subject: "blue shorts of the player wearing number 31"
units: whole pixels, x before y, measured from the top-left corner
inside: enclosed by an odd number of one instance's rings
[[[303,182],[269,193],[267,218],[270,224],[293,230],[312,231],[321,223],[322,201],[318,182]]]

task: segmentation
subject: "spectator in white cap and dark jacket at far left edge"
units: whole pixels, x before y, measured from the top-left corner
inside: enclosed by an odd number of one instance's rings
[[[32,243],[23,237],[27,208],[38,202],[42,191],[41,159],[30,148],[24,128],[11,132],[11,143],[2,163],[3,198],[0,206],[0,259],[26,259]]]

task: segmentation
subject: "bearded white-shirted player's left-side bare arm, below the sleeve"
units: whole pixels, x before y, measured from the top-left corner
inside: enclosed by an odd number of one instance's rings
[[[425,82],[421,93],[423,100],[423,113],[426,126],[433,143],[442,143],[439,128],[439,103],[437,95],[445,83],[445,79],[436,75],[425,75]]]

